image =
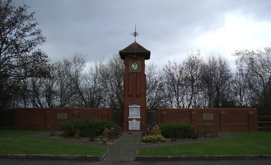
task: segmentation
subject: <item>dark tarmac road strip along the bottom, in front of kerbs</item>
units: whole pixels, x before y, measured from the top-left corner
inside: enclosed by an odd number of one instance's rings
[[[232,164],[245,164],[245,165],[270,165],[271,159],[252,159],[252,160],[194,160],[194,161],[71,161],[71,160],[33,160],[33,159],[0,159],[1,165],[232,165]]]

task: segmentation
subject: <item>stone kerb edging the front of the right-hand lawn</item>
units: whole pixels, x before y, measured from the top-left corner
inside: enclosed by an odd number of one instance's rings
[[[236,159],[271,159],[271,155],[217,155],[217,156],[136,156],[136,161],[156,160],[236,160]]]

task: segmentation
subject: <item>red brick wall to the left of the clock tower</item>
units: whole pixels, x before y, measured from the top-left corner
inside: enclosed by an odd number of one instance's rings
[[[62,123],[73,118],[112,121],[112,108],[16,108],[15,113],[17,130],[51,130],[57,122],[59,130]],[[58,119],[58,113],[67,113],[67,119]]]

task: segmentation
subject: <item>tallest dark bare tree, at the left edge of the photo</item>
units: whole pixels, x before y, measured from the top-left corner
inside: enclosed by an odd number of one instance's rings
[[[12,108],[8,102],[16,100],[20,81],[48,73],[47,55],[36,50],[37,45],[45,42],[45,37],[37,28],[35,12],[29,14],[28,8],[16,6],[11,0],[0,0],[0,97],[5,97],[4,102],[0,101],[0,113]],[[4,92],[8,91],[13,93],[7,96]]]

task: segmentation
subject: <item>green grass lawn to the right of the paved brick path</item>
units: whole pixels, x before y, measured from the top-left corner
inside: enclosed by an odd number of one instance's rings
[[[138,156],[204,156],[271,154],[269,132],[227,132],[241,139],[140,148]]]

